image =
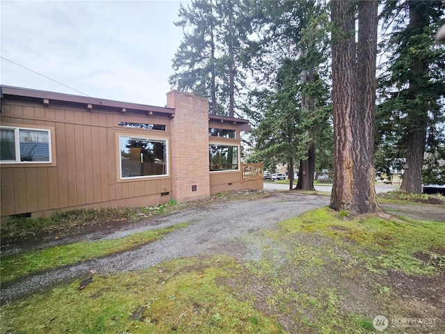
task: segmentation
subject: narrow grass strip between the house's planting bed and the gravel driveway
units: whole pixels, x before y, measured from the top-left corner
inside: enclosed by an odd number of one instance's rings
[[[81,241],[74,244],[54,246],[42,250],[32,250],[17,255],[1,257],[1,283],[15,280],[29,273],[37,273],[46,269],[74,264],[94,257],[103,257],[113,253],[123,252],[131,248],[161,239],[165,234],[178,228],[184,228],[188,223],[181,223],[161,228],[131,234],[120,239],[100,241]]]

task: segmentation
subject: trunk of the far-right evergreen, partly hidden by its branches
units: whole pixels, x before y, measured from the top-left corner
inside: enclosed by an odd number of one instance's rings
[[[426,1],[409,1],[410,24],[408,29],[416,29],[421,33],[428,26],[428,3]],[[425,111],[416,108],[416,95],[422,86],[428,84],[428,61],[423,56],[411,58],[410,70],[414,72],[412,77],[417,79],[410,81],[408,88],[410,100],[413,101],[412,109],[407,110],[410,118],[413,118],[414,125],[408,130],[406,138],[406,163],[404,167],[401,190],[407,193],[422,192],[422,168],[423,153],[426,145],[426,115]]]

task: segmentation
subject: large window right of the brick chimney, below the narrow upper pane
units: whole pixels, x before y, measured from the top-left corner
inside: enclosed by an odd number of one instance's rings
[[[238,146],[209,145],[210,171],[238,170]]]

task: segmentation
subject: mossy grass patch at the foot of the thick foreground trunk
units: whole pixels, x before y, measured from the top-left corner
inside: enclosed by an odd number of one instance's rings
[[[435,257],[434,249],[445,248],[444,223],[405,218],[391,221],[379,216],[342,219],[341,212],[318,209],[284,221],[282,228],[291,233],[309,232],[334,237],[357,245],[357,252],[375,271],[394,269],[408,274],[433,273],[434,267],[418,260],[416,253]],[[445,261],[445,259],[444,259]]]

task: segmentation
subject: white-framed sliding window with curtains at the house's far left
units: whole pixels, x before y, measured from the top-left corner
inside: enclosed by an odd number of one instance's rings
[[[0,127],[0,162],[3,164],[51,163],[48,129]]]

